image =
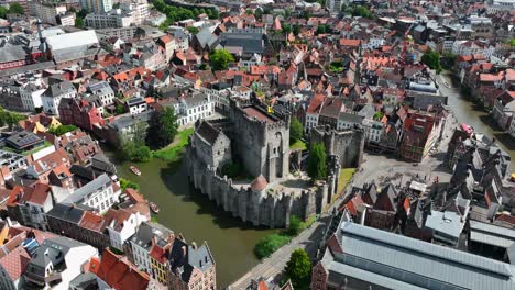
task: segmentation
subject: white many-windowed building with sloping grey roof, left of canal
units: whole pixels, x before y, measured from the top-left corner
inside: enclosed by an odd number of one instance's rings
[[[102,174],[92,181],[75,190],[63,203],[84,204],[103,214],[113,204],[118,203],[120,193],[120,186],[114,183],[107,174]]]

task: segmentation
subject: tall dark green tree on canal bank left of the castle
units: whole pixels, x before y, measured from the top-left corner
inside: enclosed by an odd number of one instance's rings
[[[156,148],[168,145],[174,141],[177,129],[177,115],[173,108],[165,107],[161,112],[154,111],[150,120],[149,144]]]

